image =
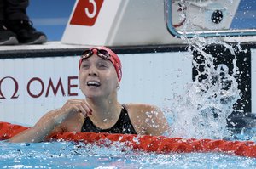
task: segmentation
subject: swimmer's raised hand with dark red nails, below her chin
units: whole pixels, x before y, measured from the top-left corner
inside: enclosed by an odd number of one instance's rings
[[[85,99],[68,99],[66,104],[57,111],[58,113],[54,117],[55,125],[61,124],[62,121],[77,113],[81,113],[84,117],[92,115],[90,105]]]

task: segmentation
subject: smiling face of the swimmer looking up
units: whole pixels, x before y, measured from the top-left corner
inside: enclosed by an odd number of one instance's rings
[[[80,66],[79,84],[87,98],[108,96],[116,93],[118,77],[110,60],[93,54]]]

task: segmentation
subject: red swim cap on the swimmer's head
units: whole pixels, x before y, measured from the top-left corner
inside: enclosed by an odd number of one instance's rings
[[[106,50],[108,52],[108,54],[110,54],[111,57],[109,57],[108,59],[113,64],[113,67],[114,67],[114,69],[117,73],[117,76],[118,76],[118,79],[119,79],[119,82],[120,82],[121,79],[122,79],[122,64],[121,64],[121,61],[119,59],[119,56],[117,54],[115,54],[110,48],[107,48],[107,47],[93,47],[93,48],[90,48],[90,50],[93,50],[93,49]],[[80,66],[82,64],[83,59],[84,58],[81,57],[81,59],[79,60],[79,70],[80,70]]]

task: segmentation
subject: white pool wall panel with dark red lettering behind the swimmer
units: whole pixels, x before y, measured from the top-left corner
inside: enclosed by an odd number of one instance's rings
[[[173,94],[184,92],[192,79],[187,52],[119,54],[123,79],[121,104],[139,102],[161,108]],[[33,125],[67,99],[84,95],[79,90],[79,57],[0,59],[0,121]]]

